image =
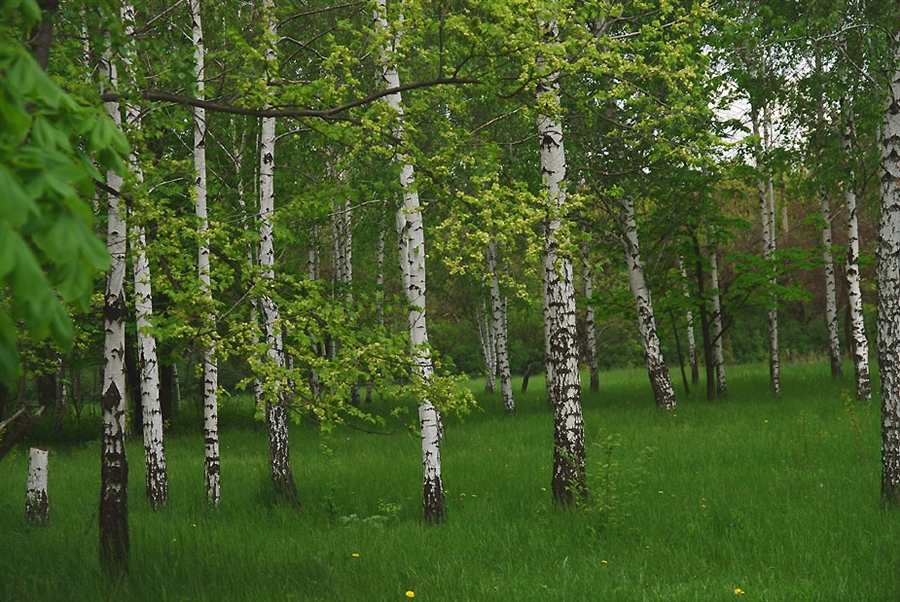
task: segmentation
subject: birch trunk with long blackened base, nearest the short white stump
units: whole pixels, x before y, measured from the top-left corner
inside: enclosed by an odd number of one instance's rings
[[[107,47],[100,63],[101,76],[115,90],[118,86],[116,67]],[[116,102],[104,103],[107,113],[121,126],[122,118]],[[125,454],[125,246],[126,223],[120,211],[118,191],[122,177],[107,172],[106,248],[111,257],[106,277],[103,302],[105,332],[103,387],[100,408],[103,436],[100,446],[100,566],[107,573],[128,568],[128,458]]]

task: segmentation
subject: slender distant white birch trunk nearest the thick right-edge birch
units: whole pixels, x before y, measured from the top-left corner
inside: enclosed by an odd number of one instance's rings
[[[848,112],[844,130],[844,153],[852,152],[852,115]],[[844,184],[844,204],[847,207],[847,296],[850,304],[850,349],[856,377],[856,399],[872,399],[872,381],[869,376],[869,340],[863,321],[862,288],[859,273],[859,211],[856,206],[856,176],[851,171]]]

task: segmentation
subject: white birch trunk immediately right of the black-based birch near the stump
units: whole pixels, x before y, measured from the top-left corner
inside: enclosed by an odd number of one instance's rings
[[[135,29],[135,9],[129,3],[122,4],[122,23],[126,39],[132,39]],[[126,71],[131,70],[131,46],[126,46],[122,62]],[[129,77],[131,74],[129,73]],[[126,125],[132,131],[141,128],[138,107],[125,105]],[[140,159],[132,151],[129,167],[138,184],[144,181]],[[141,373],[141,412],[144,429],[144,463],[147,482],[147,501],[152,508],[161,508],[169,499],[166,473],[166,455],[163,448],[162,407],[159,402],[159,361],[156,354],[156,337],[150,332],[153,325],[153,288],[150,277],[150,261],[147,258],[147,241],[144,227],[132,218],[131,237],[134,252],[134,311],[137,319],[138,366]]]

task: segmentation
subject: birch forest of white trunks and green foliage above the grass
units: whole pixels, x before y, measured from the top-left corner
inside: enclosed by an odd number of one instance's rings
[[[165,422],[202,404],[215,506],[217,407],[244,394],[286,504],[292,420],[412,400],[440,522],[462,380],[499,380],[514,415],[511,376],[546,375],[565,507],[585,493],[582,369],[595,390],[645,368],[671,411],[725,397],[735,364],[768,362],[778,395],[783,362],[837,378],[850,357],[861,402],[880,364],[900,501],[896,3],[0,12],[0,454],[42,413],[61,434],[101,405],[107,566],[127,562],[131,431],[165,506]]]

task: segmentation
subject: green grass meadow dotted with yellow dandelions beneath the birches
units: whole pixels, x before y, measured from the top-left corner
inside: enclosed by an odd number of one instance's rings
[[[603,374],[583,400],[593,502],[578,511],[552,507],[542,383],[505,418],[473,381],[483,409],[448,420],[437,527],[420,520],[419,441],[401,424],[390,436],[296,426],[298,511],[273,505],[264,430],[230,402],[218,511],[204,502],[199,428],[167,439],[162,512],[129,445],[131,571],[117,582],[97,560],[99,444],[51,444],[43,528],[24,521],[22,450],[0,462],[0,599],[896,600],[900,512],[879,499],[879,404],[850,402],[852,377],[828,370],[784,366],[775,398],[765,367],[733,367],[727,400],[698,390],[672,413],[653,407],[643,371]]]

